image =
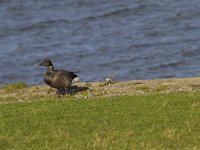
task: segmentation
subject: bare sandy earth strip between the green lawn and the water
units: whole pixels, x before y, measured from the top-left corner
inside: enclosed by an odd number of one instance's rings
[[[170,78],[158,80],[132,80],[127,82],[77,83],[64,97],[99,98],[122,95],[177,93],[200,90],[200,78]],[[57,97],[56,91],[46,85],[29,86],[6,91],[0,88],[0,103],[30,102],[45,97]],[[63,97],[63,96],[62,96]]]

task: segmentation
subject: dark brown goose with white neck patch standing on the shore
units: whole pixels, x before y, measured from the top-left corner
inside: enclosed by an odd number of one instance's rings
[[[70,88],[71,84],[79,81],[78,75],[74,72],[63,69],[54,69],[50,59],[44,59],[39,66],[47,67],[47,71],[44,74],[44,82],[50,87],[57,89],[58,95],[65,95],[66,90]]]

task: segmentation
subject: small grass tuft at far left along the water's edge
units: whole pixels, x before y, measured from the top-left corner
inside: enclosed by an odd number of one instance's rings
[[[17,83],[13,83],[13,84],[8,84],[6,86],[1,87],[2,89],[4,89],[6,92],[12,92],[15,91],[17,89],[22,89],[22,88],[26,88],[28,87],[28,85],[24,82],[17,82]]]

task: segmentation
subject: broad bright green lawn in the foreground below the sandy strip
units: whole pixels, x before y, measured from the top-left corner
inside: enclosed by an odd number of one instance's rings
[[[200,149],[200,93],[0,105],[0,149]]]

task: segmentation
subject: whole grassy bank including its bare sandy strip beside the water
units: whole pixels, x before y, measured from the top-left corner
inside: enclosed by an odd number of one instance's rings
[[[0,87],[0,149],[200,149],[200,78]]]

